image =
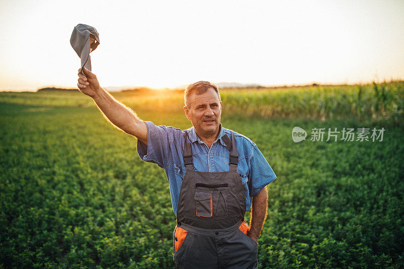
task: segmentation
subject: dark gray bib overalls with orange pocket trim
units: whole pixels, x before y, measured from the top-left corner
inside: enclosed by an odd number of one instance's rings
[[[192,168],[191,144],[186,141],[186,172],[181,184],[173,256],[177,268],[258,268],[258,244],[247,236],[245,196],[237,173],[234,132],[228,172],[198,172]]]

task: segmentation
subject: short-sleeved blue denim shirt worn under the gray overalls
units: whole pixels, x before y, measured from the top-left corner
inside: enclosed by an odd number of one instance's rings
[[[185,175],[183,159],[184,136],[181,129],[171,126],[156,126],[152,122],[145,122],[147,126],[146,146],[137,140],[137,152],[145,162],[155,163],[166,171],[170,186],[171,203],[175,216],[182,179]],[[227,134],[231,139],[229,129],[220,124],[218,138],[211,148],[196,135],[194,127],[185,130],[188,142],[192,146],[193,169],[199,172],[229,171],[230,151],[222,140]],[[234,132],[238,151],[237,172],[240,174],[244,186],[245,210],[251,206],[251,197],[257,195],[262,188],[276,179],[276,175],[257,145],[247,137]]]

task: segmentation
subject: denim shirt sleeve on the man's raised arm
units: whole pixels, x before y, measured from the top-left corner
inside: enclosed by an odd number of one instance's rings
[[[144,122],[147,127],[147,146],[137,140],[137,153],[145,162],[155,163],[165,169],[170,160],[170,129],[164,125],[156,126],[152,122]]]

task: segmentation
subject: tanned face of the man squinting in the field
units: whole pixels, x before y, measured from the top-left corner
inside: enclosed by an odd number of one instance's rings
[[[214,88],[209,88],[200,95],[191,94],[188,107],[184,106],[184,111],[198,135],[210,136],[219,131],[222,101]]]

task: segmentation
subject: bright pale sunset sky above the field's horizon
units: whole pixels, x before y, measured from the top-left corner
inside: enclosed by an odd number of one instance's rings
[[[404,79],[404,1],[0,0],[0,90],[77,88],[74,26],[103,87]]]

